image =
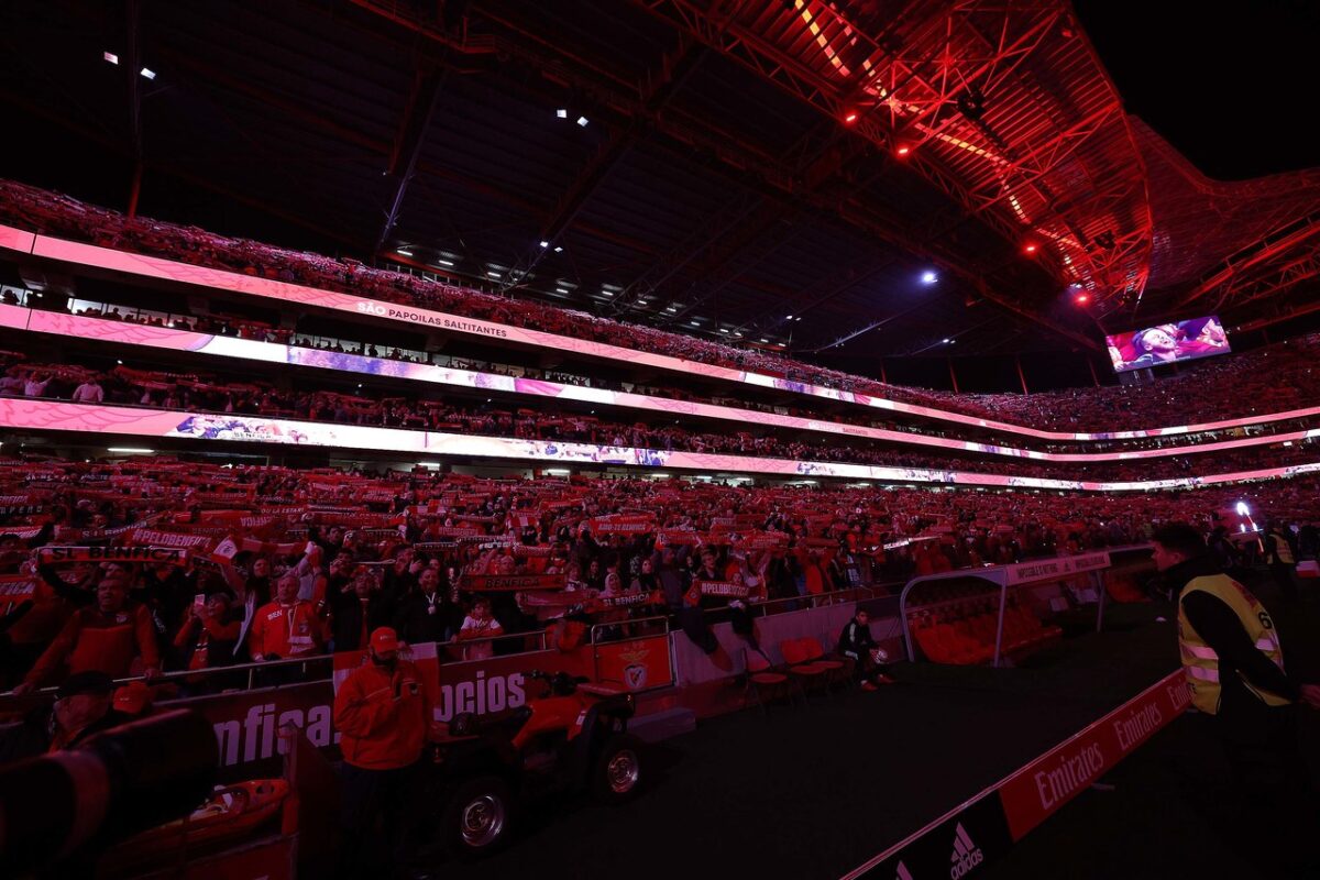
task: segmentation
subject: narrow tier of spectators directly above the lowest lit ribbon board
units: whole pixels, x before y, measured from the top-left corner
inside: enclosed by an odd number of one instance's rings
[[[1092,463],[1043,463],[1001,455],[957,455],[911,450],[857,437],[788,431],[697,430],[678,420],[647,414],[622,422],[595,414],[541,405],[504,409],[494,398],[378,397],[343,393],[301,381],[279,388],[215,373],[143,371],[119,364],[95,371],[73,363],[7,363],[0,355],[0,397],[71,400],[84,404],[150,406],[191,413],[224,413],[338,425],[368,425],[484,437],[574,442],[614,449],[678,450],[795,462],[842,462],[933,471],[1006,474],[1074,480],[1177,479],[1315,460],[1311,441],[1249,446],[1237,450]]]

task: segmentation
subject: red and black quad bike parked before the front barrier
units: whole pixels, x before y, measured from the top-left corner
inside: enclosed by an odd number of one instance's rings
[[[568,673],[528,673],[549,685],[524,706],[449,723],[436,744],[434,800],[444,848],[459,858],[510,839],[517,803],[550,792],[590,792],[622,803],[642,781],[642,743],[628,735],[631,694]]]

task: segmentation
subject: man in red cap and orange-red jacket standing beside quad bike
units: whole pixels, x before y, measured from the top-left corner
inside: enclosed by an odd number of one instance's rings
[[[389,840],[399,867],[412,856],[421,794],[414,765],[426,739],[438,731],[421,673],[399,658],[397,633],[378,628],[367,653],[368,662],[339,685],[334,698],[343,752],[339,864],[345,877],[371,873],[374,859],[366,850],[375,842]]]

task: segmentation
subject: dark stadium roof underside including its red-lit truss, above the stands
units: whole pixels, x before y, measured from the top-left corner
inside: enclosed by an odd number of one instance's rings
[[[243,204],[341,253],[804,355],[1096,350],[1097,318],[1213,302],[1148,293],[1213,272],[1175,256],[1184,235],[1220,259],[1300,206],[1232,240],[1193,235],[1195,206],[1158,231],[1177,157],[1123,112],[1064,0],[0,15],[0,100],[129,168],[143,214],[260,237],[227,212]],[[180,185],[219,199],[180,206]]]

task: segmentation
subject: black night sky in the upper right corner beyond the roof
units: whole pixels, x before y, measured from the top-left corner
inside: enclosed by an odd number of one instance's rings
[[[1320,166],[1317,0],[1074,0],[1142,117],[1216,179]],[[1155,15],[1151,15],[1151,13]]]

